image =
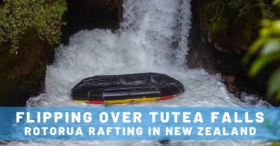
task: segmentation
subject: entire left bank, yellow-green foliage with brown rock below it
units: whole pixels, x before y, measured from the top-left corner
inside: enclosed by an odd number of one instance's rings
[[[66,0],[4,0],[0,6],[0,101],[24,105],[40,91],[46,54],[61,36]],[[13,52],[13,53],[10,53]]]

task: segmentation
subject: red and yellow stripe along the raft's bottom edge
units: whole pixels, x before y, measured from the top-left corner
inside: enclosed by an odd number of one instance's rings
[[[158,100],[174,98],[176,96],[178,96],[178,94],[174,94],[170,96],[162,96],[162,97],[127,98],[127,99],[111,100],[111,101],[88,101],[88,100],[73,100],[73,101],[79,103],[91,103],[91,104],[119,104],[119,103],[138,103],[138,102],[145,102],[145,101],[158,101]]]

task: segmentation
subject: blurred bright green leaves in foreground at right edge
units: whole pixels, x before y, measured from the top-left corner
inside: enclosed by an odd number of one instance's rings
[[[259,38],[251,45],[243,59],[244,63],[248,63],[254,54],[258,54],[249,71],[252,77],[265,66],[280,61],[280,20],[264,20],[262,26]],[[280,100],[280,68],[269,78],[267,95]]]

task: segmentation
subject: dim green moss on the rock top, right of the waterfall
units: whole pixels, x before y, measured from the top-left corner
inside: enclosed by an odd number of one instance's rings
[[[255,35],[253,31],[260,29],[260,20],[276,19],[277,13],[274,13],[273,8],[265,0],[201,1],[200,22],[204,24],[201,27],[206,27],[212,36],[228,34],[233,32],[233,28],[238,28],[244,33],[239,34],[242,42],[251,43]]]

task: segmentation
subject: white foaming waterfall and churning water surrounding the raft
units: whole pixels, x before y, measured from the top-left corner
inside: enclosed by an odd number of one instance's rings
[[[94,75],[158,72],[180,80],[186,92],[166,101],[130,106],[243,106],[229,94],[218,77],[202,69],[186,67],[190,0],[124,1],[124,22],[115,33],[94,29],[79,31],[69,45],[57,48],[55,63],[48,66],[45,93],[30,98],[27,105],[80,106],[71,100],[71,88]],[[250,100],[251,99],[251,100]],[[253,102],[262,105],[262,102]],[[118,105],[127,106],[127,104]],[[162,145],[156,141],[29,141],[8,145]],[[172,141],[167,145],[268,145],[261,141]]]

